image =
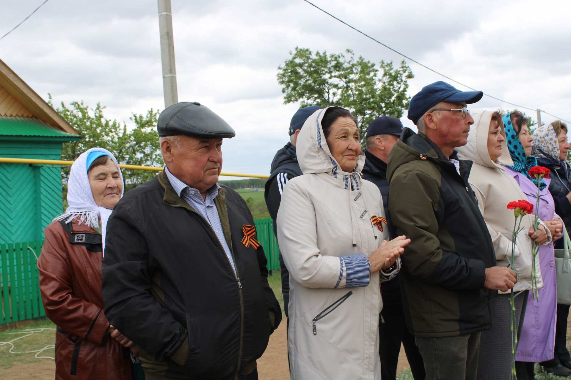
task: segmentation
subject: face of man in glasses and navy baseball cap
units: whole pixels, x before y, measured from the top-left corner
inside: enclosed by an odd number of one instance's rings
[[[433,108],[463,108],[466,107],[466,102],[449,103],[443,101]],[[470,132],[470,125],[474,124],[474,119],[468,113],[466,117],[462,117],[460,111],[436,111],[439,113],[437,133],[441,136],[441,141],[446,146],[456,148],[457,146],[464,146],[468,142],[468,132]]]

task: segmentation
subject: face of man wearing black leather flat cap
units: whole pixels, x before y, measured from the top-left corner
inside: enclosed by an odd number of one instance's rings
[[[180,136],[180,147],[171,144],[171,154],[164,156],[168,170],[180,181],[204,193],[222,171],[222,138]],[[169,160],[170,162],[167,162]]]

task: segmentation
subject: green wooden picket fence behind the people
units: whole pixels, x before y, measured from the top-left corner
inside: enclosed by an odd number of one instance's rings
[[[268,259],[268,270],[280,268],[278,240],[272,219],[256,219],[256,240],[262,244]],[[0,325],[43,317],[39,292],[37,259],[43,242],[0,244]],[[30,247],[34,252],[32,252]]]

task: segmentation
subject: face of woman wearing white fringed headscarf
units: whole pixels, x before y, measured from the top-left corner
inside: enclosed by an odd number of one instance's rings
[[[109,160],[105,165],[93,167],[87,177],[97,206],[112,209],[121,199],[123,192],[119,168]]]

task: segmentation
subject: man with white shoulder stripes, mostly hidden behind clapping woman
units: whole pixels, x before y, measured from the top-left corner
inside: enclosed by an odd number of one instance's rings
[[[312,115],[313,112],[321,109],[319,105],[311,105],[309,107],[300,108],[297,110],[291,122],[289,122],[289,142],[282,149],[278,150],[272,161],[270,178],[266,182],[264,191],[264,198],[266,198],[266,206],[272,220],[274,220],[274,234],[277,236],[276,218],[278,217],[278,210],[280,202],[282,201],[282,192],[286,183],[298,175],[301,175],[301,169],[297,164],[297,157],[295,152],[295,143],[297,135],[301,132],[305,120]],[[282,253],[279,253],[280,269],[282,269],[282,295],[284,297],[284,312],[286,317],[287,307],[289,302],[289,272],[287,271],[286,264],[282,258]]]

